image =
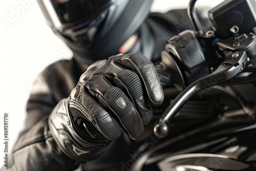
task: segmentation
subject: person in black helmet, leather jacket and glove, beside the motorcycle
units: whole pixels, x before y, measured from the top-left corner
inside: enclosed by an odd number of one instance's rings
[[[2,170],[129,169],[129,147],[145,137],[152,105],[164,98],[151,61],[168,38],[190,29],[181,24],[186,10],[148,16],[153,0],[37,2],[74,55],[38,75],[25,129]]]

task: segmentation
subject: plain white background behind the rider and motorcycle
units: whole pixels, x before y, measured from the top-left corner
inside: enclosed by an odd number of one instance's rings
[[[188,2],[189,0],[155,0],[152,11],[185,8]],[[10,150],[24,126],[26,102],[36,75],[50,63],[70,58],[72,53],[45,24],[35,0],[1,0],[0,34],[1,166],[4,156],[4,113],[9,114]]]

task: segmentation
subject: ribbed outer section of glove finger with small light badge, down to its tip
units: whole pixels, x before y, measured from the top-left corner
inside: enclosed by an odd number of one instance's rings
[[[144,133],[141,118],[132,101],[117,87],[109,88],[103,96],[97,96],[109,106],[123,130],[132,138],[139,139]],[[114,116],[113,116],[114,117]]]

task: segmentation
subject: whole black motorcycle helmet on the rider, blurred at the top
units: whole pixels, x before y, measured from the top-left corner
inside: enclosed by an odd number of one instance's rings
[[[153,0],[37,0],[46,23],[79,61],[120,53],[141,26]]]

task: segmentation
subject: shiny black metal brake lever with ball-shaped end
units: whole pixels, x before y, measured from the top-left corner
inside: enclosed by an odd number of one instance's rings
[[[247,57],[246,51],[226,52],[224,62],[221,63],[215,72],[191,83],[174,99],[174,101],[165,110],[161,118],[155,123],[154,134],[160,138],[167,136],[169,132],[169,122],[175,117],[175,115],[190,98],[203,89],[230,80],[242,72],[248,63],[249,58]]]

